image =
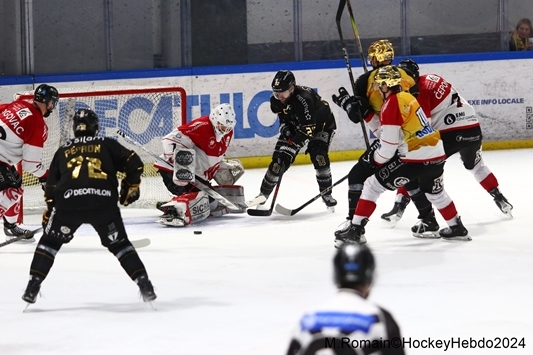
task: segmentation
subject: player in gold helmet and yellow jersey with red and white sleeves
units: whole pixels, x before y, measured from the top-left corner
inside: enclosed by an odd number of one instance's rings
[[[384,98],[380,113],[381,134],[359,159],[359,171],[373,171],[368,179],[352,168],[356,184],[364,184],[354,215],[345,228],[335,232],[336,246],[366,242],[364,227],[376,209],[376,200],[385,190],[396,190],[418,180],[421,191],[435,206],[448,228],[439,237],[471,240],[455,205],[444,190],[446,155],[440,134],[428,122],[415,97],[402,91],[402,76],[397,67],[379,68],[374,80]],[[433,213],[431,210],[429,213]]]

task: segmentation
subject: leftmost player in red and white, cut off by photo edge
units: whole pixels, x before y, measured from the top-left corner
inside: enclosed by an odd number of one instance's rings
[[[6,239],[26,235],[23,242],[33,242],[32,233],[17,224],[22,198],[22,178],[16,170],[22,169],[46,180],[47,169],[42,165],[44,142],[48,138],[48,117],[59,100],[57,89],[41,84],[35,89],[33,100],[15,100],[0,105],[0,215],[3,216]]]

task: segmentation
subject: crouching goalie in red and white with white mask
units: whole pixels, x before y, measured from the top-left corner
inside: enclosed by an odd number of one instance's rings
[[[235,124],[233,107],[220,104],[209,116],[179,126],[163,137],[161,158],[168,164],[156,162],[154,166],[168,191],[175,196],[169,202],[158,203],[158,208],[164,212],[159,223],[181,227],[229,212],[195,187],[195,176],[207,181],[214,179],[218,193],[233,200],[231,202],[239,199],[244,202],[243,187],[235,185],[244,174],[244,168],[236,159],[224,159]]]

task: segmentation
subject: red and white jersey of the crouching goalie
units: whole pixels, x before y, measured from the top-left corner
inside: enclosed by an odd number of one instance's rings
[[[211,180],[215,176],[232,138],[233,131],[225,134],[220,142],[217,142],[209,116],[202,116],[177,127],[163,137],[161,158],[172,165],[175,149],[194,149],[196,153],[195,174],[206,180]],[[157,169],[172,172],[172,169],[166,165],[156,162],[154,166]]]

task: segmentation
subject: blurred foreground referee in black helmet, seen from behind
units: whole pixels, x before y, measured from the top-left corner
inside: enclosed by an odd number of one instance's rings
[[[404,354],[400,328],[392,315],[367,300],[375,269],[370,249],[342,245],[333,268],[337,294],[303,315],[287,355]]]

